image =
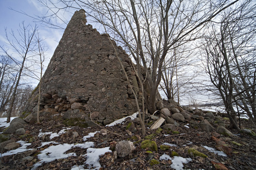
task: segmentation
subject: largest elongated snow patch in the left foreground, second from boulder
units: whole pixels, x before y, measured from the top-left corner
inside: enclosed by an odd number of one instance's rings
[[[55,159],[64,159],[68,158],[69,156],[76,156],[76,153],[73,152],[65,154],[65,152],[67,152],[73,147],[89,148],[93,146],[93,142],[79,143],[77,145],[64,143],[55,146],[50,146],[45,150],[41,151],[41,154],[38,155],[38,159],[40,159],[40,162],[36,163],[32,169],[36,169],[37,167],[42,165],[42,163],[52,162]]]

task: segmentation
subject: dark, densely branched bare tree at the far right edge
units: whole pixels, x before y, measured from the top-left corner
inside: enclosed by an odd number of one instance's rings
[[[255,3],[243,1],[225,11],[204,44],[207,73],[224,101],[230,126],[236,129],[240,109],[255,118],[255,9]]]

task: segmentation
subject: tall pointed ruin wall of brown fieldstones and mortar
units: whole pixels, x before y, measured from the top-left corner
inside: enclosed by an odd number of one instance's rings
[[[113,40],[110,42],[108,35],[86,25],[85,17],[84,10],[75,12],[49,62],[42,78],[40,111],[54,110],[63,118],[88,121],[91,116],[98,124],[106,125],[137,112],[129,84],[138,88],[138,82],[125,50]],[[26,112],[36,113],[37,103],[36,89],[27,102]]]

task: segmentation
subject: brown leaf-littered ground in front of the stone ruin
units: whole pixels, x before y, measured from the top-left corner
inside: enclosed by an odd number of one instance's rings
[[[44,118],[43,123],[40,125],[27,125],[25,129],[27,130],[27,137],[19,138],[18,136],[13,136],[16,141],[22,139],[26,141],[30,139],[31,136],[37,136],[39,133],[39,129],[42,131],[53,131],[59,132],[63,128],[63,120],[58,115],[48,115],[48,118]],[[114,144],[118,141],[128,140],[131,138],[129,136],[128,131],[126,130],[127,124],[130,120],[127,120],[122,125],[115,125],[112,127],[104,127],[113,133],[108,133],[108,135],[103,136],[100,133],[97,133],[94,137],[89,138],[88,141],[92,141],[95,143],[94,146],[97,148],[108,147],[114,150]],[[241,122],[243,128],[254,128],[252,124],[250,124],[247,120],[242,120]],[[144,140],[144,137],[139,130],[139,124],[134,122],[135,127],[137,127],[137,131],[133,132],[133,136],[136,135],[140,138],[139,141],[135,142],[135,150],[125,158],[117,158],[115,159],[113,152],[102,155],[100,158],[101,169],[171,169],[171,161],[168,160],[159,160],[159,157],[164,153],[167,155],[171,155],[172,151],[176,151],[179,156],[183,158],[192,158],[192,161],[188,164],[184,164],[184,169],[217,169],[214,168],[214,163],[221,163],[224,165],[222,169],[256,169],[256,137],[251,137],[246,134],[234,135],[234,137],[225,137],[221,135],[218,137],[221,141],[224,141],[229,148],[232,149],[230,155],[224,157],[213,154],[213,152],[209,152],[203,146],[216,148],[216,142],[212,140],[211,133],[206,133],[201,129],[192,129],[185,128],[184,126],[180,126],[176,129],[179,131],[179,134],[174,134],[168,130],[162,130],[160,134],[156,135],[152,141],[155,141],[158,145],[158,151],[153,152],[153,154],[148,154],[146,150],[141,149],[141,141]],[[83,143],[82,137],[88,135],[90,132],[100,131],[102,128],[79,128],[78,126],[73,127],[70,131],[77,131],[79,133],[79,137],[72,138],[71,133],[65,133],[60,135],[59,137],[53,138],[51,141],[56,141],[59,143]],[[238,134],[238,131],[233,131],[233,134]],[[154,131],[146,130],[146,135],[152,134]],[[170,134],[168,137],[164,136],[164,134]],[[49,141],[49,139],[44,139],[44,142]],[[238,142],[241,143],[242,146],[237,146],[232,143]],[[35,142],[32,143],[30,148],[36,148],[36,151],[33,155],[33,160],[21,161],[15,160],[14,156],[4,156],[1,158],[0,169],[30,169],[33,164],[38,162],[38,158],[36,155],[39,154],[40,150],[49,147],[44,146],[43,148],[37,148],[41,145],[39,139],[36,139]],[[86,141],[87,142],[87,141]],[[160,150],[160,145],[164,142],[176,144],[176,147],[171,147],[169,150],[163,151]],[[188,142],[192,142],[191,145],[188,145]],[[52,145],[52,144],[51,144]],[[187,145],[187,146],[184,146]],[[198,151],[203,152],[208,158],[201,158],[199,156],[192,156],[188,154],[188,148],[196,148]],[[43,164],[38,169],[71,169],[74,165],[82,165],[84,164],[86,158],[81,155],[86,154],[86,149],[75,148],[69,150],[70,152],[76,152],[78,156],[69,157],[67,159],[59,159],[55,160],[51,163]],[[69,152],[68,151],[68,152]],[[156,159],[159,160],[159,164],[150,165],[150,160]],[[86,168],[86,167],[84,167]],[[221,168],[220,168],[221,169]]]

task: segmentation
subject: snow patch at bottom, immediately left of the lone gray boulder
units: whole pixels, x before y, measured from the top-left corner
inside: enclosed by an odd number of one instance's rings
[[[88,164],[88,168],[96,167],[95,169],[100,169],[101,164],[99,162],[100,155],[104,155],[106,152],[112,152],[109,150],[109,147],[104,148],[88,148],[86,156],[85,164]]]

